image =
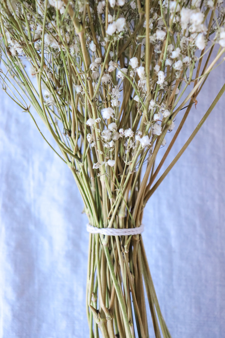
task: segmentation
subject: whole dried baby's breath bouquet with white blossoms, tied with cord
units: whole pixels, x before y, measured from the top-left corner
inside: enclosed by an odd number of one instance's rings
[[[30,105],[44,121],[53,137],[46,141],[68,165],[84,202],[90,337],[100,331],[104,338],[149,337],[148,325],[157,338],[170,337],[147,263],[142,216],[225,91],[224,84],[159,177],[224,57],[223,1],[0,0],[0,6],[2,88],[36,126]]]

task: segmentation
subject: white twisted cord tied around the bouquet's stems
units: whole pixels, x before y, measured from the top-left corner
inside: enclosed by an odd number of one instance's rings
[[[107,236],[139,235],[144,231],[144,224],[132,229],[97,228],[96,226],[87,224],[87,231],[91,234],[102,234]]]

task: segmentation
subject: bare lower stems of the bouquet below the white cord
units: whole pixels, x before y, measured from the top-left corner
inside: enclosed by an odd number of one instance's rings
[[[147,318],[145,291],[151,312]],[[171,337],[154,290],[141,235],[89,235],[87,316],[90,337]],[[149,325],[149,326],[148,326]]]

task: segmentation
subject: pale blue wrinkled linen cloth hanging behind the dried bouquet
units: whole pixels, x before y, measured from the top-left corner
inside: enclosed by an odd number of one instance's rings
[[[224,66],[217,68],[198,96],[196,110],[192,107],[164,169],[224,78]],[[3,91],[0,100],[0,338],[89,337],[85,308],[89,235],[79,191],[70,170],[29,115]],[[142,236],[173,338],[224,337],[224,103],[223,95],[144,212]],[[178,114],[176,126],[179,121]],[[168,143],[173,135],[167,134]]]

